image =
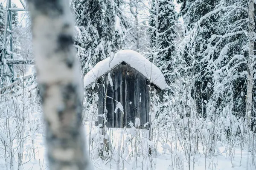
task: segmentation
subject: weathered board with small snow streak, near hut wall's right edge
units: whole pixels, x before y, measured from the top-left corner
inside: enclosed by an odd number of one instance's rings
[[[146,78],[140,73],[136,72],[136,91],[137,91],[137,116],[140,118],[140,128],[144,128],[144,124],[146,123]],[[141,101],[141,102],[140,102]]]

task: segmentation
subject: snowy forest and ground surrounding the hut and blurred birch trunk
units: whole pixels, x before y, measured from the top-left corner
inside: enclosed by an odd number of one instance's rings
[[[84,92],[82,123],[95,169],[256,170],[254,7],[253,0],[72,0],[81,79],[111,52],[132,49],[157,65],[167,84],[152,99],[153,138],[144,143],[136,122],[101,136],[98,95]],[[34,58],[30,26],[29,12],[13,12],[15,59]],[[47,169],[34,65],[15,65],[15,82],[8,71],[0,77],[0,169]],[[112,140],[109,151],[102,138]]]

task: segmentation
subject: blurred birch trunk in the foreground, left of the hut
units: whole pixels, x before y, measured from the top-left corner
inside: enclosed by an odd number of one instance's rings
[[[83,92],[69,0],[29,0],[29,10],[50,170],[91,170],[81,125]]]

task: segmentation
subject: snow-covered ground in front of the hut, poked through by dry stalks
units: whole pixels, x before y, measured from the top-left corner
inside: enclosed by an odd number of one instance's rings
[[[89,122],[87,122],[84,127],[87,132],[87,141],[89,141]],[[96,131],[97,127],[92,126],[90,133],[91,143],[92,140],[95,141],[97,139]],[[90,159],[95,169],[118,170],[117,164],[119,162],[120,170],[147,170],[150,169],[150,164],[153,166],[152,169],[155,170],[189,170],[188,159],[186,159],[185,153],[181,150],[177,140],[173,139],[172,144],[148,142],[145,134],[142,135],[143,133],[145,133],[145,130],[137,130],[134,128],[126,130],[110,129],[109,134],[112,136],[110,143],[113,152],[105,154],[105,161],[102,161],[102,159],[97,156],[98,152],[95,145],[89,147]],[[131,134],[133,137],[131,137]],[[98,137],[100,138],[101,136]],[[136,140],[137,142],[134,142]],[[87,142],[87,147],[88,143],[89,142]],[[135,146],[136,143],[137,146]],[[153,147],[157,147],[157,154],[155,154],[154,149],[152,149],[152,158],[149,157],[148,153],[145,153],[145,151],[148,150],[148,146],[151,144],[154,145]],[[48,167],[43,135],[37,134],[35,147],[35,159],[29,160],[28,156],[24,156],[24,170],[44,170]],[[141,150],[140,147],[144,147],[144,149]],[[137,148],[137,150],[135,150],[135,148]],[[233,152],[235,154],[231,155],[232,158],[229,157],[230,153],[226,151],[224,146],[219,146],[216,150],[218,151],[215,153],[215,156],[212,156],[210,159],[204,156],[203,151],[199,151],[199,154],[191,156],[190,170],[256,170],[251,163],[250,153],[248,153],[247,150],[236,148]],[[0,162],[3,165],[1,169],[3,169],[5,167],[4,159],[1,158]]]

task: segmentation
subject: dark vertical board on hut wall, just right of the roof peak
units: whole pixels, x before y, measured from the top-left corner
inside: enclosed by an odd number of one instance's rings
[[[137,115],[137,105],[134,102],[135,95],[134,91],[135,89],[135,72],[136,70],[134,68],[131,68],[130,65],[127,65],[126,67],[126,81],[125,81],[125,111],[126,111],[126,124],[128,122],[135,122],[135,117]],[[131,102],[131,104],[130,104]]]

